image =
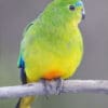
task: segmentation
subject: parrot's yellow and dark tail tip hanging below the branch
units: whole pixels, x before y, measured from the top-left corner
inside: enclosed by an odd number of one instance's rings
[[[15,108],[31,108],[30,105],[33,102],[33,96],[26,96],[18,99]]]

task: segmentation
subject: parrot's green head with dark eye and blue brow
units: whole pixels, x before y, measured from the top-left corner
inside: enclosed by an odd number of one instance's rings
[[[48,8],[50,17],[59,22],[70,22],[78,25],[84,17],[85,11],[81,0],[53,0]]]

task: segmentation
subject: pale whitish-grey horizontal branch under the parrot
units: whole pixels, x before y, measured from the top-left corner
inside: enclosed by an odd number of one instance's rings
[[[53,86],[54,81],[50,82]],[[108,80],[66,80],[63,82],[62,93],[103,93],[108,94]],[[42,82],[25,85],[0,87],[0,98],[23,97],[30,95],[44,95]],[[50,92],[50,95],[56,92]]]

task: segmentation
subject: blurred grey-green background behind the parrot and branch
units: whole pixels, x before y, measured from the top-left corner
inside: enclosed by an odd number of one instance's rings
[[[21,84],[16,66],[24,27],[51,0],[0,0],[0,86]],[[81,23],[84,57],[71,79],[108,79],[108,0],[83,0]],[[0,108],[14,108],[17,98],[0,99]],[[32,108],[108,108],[108,95],[63,94],[40,96]]]

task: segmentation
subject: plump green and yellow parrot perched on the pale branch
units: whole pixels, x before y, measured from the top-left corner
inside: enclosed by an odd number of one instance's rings
[[[52,0],[26,26],[17,60],[23,84],[42,79],[60,82],[73,76],[83,57],[79,24],[84,17],[81,0]],[[31,108],[33,98],[21,97],[15,108]]]

